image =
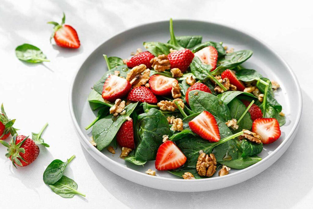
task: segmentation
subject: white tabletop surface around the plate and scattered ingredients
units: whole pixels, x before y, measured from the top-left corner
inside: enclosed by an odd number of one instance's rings
[[[66,23],[78,32],[79,50],[49,43],[52,25]],[[263,40],[295,71],[303,94],[298,134],[270,168],[225,189],[177,193],[155,190],[125,180],[96,162],[82,147],[69,114],[69,86],[82,62],[111,36],[159,20],[196,19],[225,24]],[[0,147],[0,208],[312,207],[313,204],[313,15],[309,1],[28,1],[0,2],[0,102],[16,118],[21,134],[37,132],[50,148],[40,146],[38,159],[15,169]],[[51,60],[27,64],[15,57],[16,46],[38,46]],[[136,49],[134,49],[136,50]],[[273,69],[275,71],[275,69]],[[53,159],[75,154],[65,174],[86,198],[65,199],[44,184],[42,174]]]

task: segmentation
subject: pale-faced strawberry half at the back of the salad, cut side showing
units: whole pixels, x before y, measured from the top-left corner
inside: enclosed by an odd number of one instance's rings
[[[195,56],[199,57],[203,64],[211,65],[213,71],[216,68],[218,52],[213,46],[204,47],[195,53]]]

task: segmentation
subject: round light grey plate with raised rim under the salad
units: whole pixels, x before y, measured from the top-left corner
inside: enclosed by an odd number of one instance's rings
[[[113,156],[106,149],[101,152],[90,144],[91,129],[84,128],[95,119],[87,97],[90,88],[106,71],[103,54],[129,58],[132,51],[143,48],[144,41],[167,42],[170,35],[168,21],[141,25],[126,30],[105,41],[85,60],[78,70],[69,94],[70,113],[78,133],[80,142],[85,149],[101,165],[121,177],[135,183],[168,191],[208,191],[238,184],[258,175],[272,165],[286,151],[295,137],[302,110],[302,97],[298,81],[287,63],[271,48],[260,40],[220,24],[201,21],[175,20],[174,30],[178,35],[202,35],[204,41],[223,41],[223,45],[235,51],[249,49],[254,54],[243,66],[255,69],[264,77],[278,81],[281,88],[275,98],[283,106],[286,124],[281,127],[282,135],[275,143],[264,145],[259,154],[263,159],[243,170],[232,169],[229,175],[219,177],[215,174],[208,179],[183,180],[166,171],[157,171],[156,176],[144,173],[147,169],[155,170],[154,161],[145,166],[136,166],[119,158],[120,151]],[[101,35],[101,34],[99,34]]]

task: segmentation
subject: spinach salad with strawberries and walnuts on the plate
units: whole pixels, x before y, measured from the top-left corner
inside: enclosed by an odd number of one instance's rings
[[[280,87],[244,68],[253,52],[234,51],[200,35],[143,42],[130,59],[104,55],[108,70],[88,101],[97,117],[91,144],[135,165],[184,179],[223,176],[260,160],[285,124],[274,92]],[[155,175],[155,170],[146,171]]]

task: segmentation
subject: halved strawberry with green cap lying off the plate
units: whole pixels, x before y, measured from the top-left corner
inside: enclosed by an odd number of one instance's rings
[[[80,47],[80,41],[76,30],[70,25],[64,25],[65,23],[65,14],[63,13],[62,23],[58,24],[56,22],[48,22],[48,24],[54,25],[54,31],[50,36],[51,39],[54,38],[54,41],[57,45],[65,48],[77,49]]]

